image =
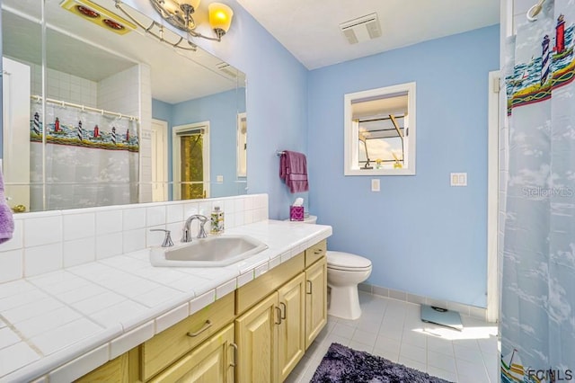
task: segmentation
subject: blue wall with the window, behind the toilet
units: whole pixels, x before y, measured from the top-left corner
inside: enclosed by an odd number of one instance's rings
[[[310,72],[310,206],[332,250],[373,263],[368,282],[486,306],[488,72],[499,25]],[[417,83],[417,174],[343,175],[343,95]],[[449,173],[466,172],[467,187]],[[381,191],[370,191],[371,178]]]

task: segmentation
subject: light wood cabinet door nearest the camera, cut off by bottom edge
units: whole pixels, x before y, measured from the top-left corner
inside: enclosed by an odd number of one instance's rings
[[[234,346],[234,324],[230,324],[151,382],[233,383]]]

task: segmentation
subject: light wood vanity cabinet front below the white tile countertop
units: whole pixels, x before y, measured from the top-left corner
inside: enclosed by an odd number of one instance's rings
[[[281,382],[327,322],[326,241],[79,379]]]

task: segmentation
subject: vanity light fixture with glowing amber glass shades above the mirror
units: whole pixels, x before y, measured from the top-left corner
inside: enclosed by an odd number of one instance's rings
[[[224,36],[230,29],[232,18],[234,17],[234,11],[226,4],[209,4],[209,24],[216,36],[207,36],[201,34],[199,31],[195,31],[197,24],[192,17],[192,14],[199,8],[200,0],[150,0],[150,3],[154,6],[157,13],[159,13],[166,22],[169,22],[174,27],[181,31],[185,31],[188,34],[187,39],[179,37],[178,40],[171,41],[165,38],[164,25],[153,21],[149,26],[146,26],[142,22],[138,21],[137,18],[130,15],[128,11],[122,7],[122,0],[114,1],[116,8],[124,13],[131,22],[136,23],[138,27],[146,31],[147,34],[173,46],[173,48],[184,50],[196,50],[196,44],[190,41],[190,38],[221,41],[222,36]],[[185,42],[187,42],[187,44],[185,44]]]

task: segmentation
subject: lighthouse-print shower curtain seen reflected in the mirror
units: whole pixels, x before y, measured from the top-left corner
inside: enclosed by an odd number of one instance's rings
[[[137,202],[137,120],[46,102],[44,138],[41,108],[31,102],[31,211]]]

